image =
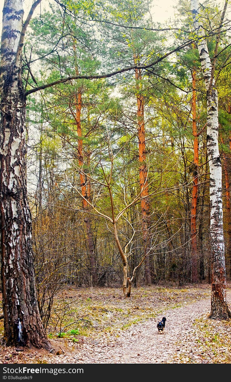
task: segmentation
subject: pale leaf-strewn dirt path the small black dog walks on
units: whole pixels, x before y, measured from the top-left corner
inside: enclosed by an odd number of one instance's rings
[[[99,340],[85,343],[84,353],[84,348],[80,346],[78,356],[72,355],[72,359],[75,363],[173,363],[174,354],[182,351],[177,341],[185,335],[190,341],[195,318],[209,311],[210,298],[163,311],[163,316],[167,318],[163,334],[158,332],[156,320],[149,319],[121,332],[120,337],[112,338],[110,342]]]

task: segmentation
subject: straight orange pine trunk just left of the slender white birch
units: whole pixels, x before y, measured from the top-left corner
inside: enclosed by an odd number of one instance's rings
[[[196,71],[192,71],[192,134],[194,136],[194,168],[191,207],[191,254],[192,254],[192,283],[198,283],[198,254],[197,254],[197,193],[198,193],[198,137],[196,123]]]

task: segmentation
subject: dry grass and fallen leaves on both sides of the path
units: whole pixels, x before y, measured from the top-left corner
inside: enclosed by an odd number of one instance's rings
[[[65,288],[57,296],[54,311],[47,328],[52,345],[76,354],[78,345],[99,338],[118,337],[121,330],[153,317],[162,318],[162,312],[193,303],[210,296],[210,285],[187,285],[182,288],[148,286],[133,288],[132,298],[123,298],[120,288]],[[0,321],[3,335],[3,320]],[[60,334],[61,333],[61,334]],[[86,341],[86,339],[88,339]],[[189,351],[192,343],[194,351]],[[192,331],[177,342],[171,363],[230,363],[231,322],[195,320]],[[63,361],[64,362],[64,361]],[[74,358],[68,362],[75,363]],[[0,363],[62,363],[55,354],[44,350],[0,348]]]

